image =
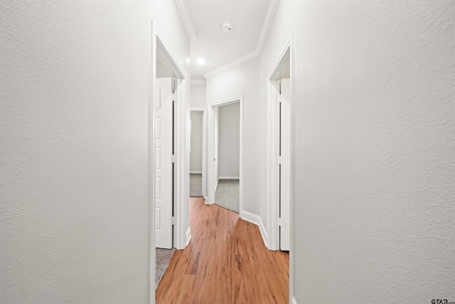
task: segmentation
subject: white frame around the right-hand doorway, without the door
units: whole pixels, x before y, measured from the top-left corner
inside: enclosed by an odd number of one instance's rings
[[[279,250],[279,79],[289,61],[291,83],[291,164],[290,164],[290,221],[289,221],[289,299],[294,298],[294,48],[293,33],[279,53],[267,77],[267,248]]]

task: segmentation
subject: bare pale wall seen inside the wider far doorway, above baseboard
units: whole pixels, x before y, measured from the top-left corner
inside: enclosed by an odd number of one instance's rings
[[[220,107],[218,177],[240,177],[240,102]]]

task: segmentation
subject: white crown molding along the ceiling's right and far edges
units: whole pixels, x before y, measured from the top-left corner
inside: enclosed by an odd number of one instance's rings
[[[269,6],[267,7],[267,12],[264,17],[264,22],[262,23],[261,32],[259,33],[259,38],[257,40],[255,50],[251,51],[250,53],[246,53],[245,55],[240,56],[233,61],[220,65],[218,68],[208,71],[204,74],[205,79],[218,75],[219,73],[222,73],[225,70],[229,70],[230,68],[234,68],[237,65],[250,61],[261,54],[262,47],[264,46],[265,39],[267,38],[267,33],[269,32],[270,24],[272,23],[275,10],[277,9],[278,1],[279,0],[269,0]]]

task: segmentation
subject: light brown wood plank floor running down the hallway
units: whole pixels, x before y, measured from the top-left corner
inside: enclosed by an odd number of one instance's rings
[[[174,254],[156,303],[289,303],[289,253],[269,251],[259,228],[190,199],[191,241]]]

